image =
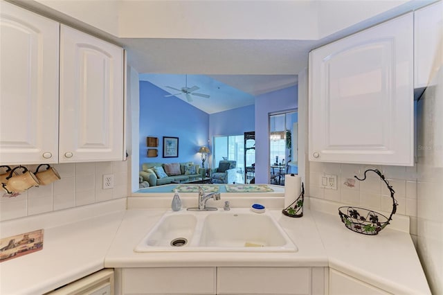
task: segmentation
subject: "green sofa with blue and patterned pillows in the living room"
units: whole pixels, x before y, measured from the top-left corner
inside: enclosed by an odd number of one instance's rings
[[[204,177],[205,170],[199,164],[186,163],[143,163],[139,175],[150,186],[186,183]]]

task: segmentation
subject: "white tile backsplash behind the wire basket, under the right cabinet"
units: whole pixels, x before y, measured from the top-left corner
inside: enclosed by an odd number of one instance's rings
[[[310,197],[341,202],[348,206],[360,206],[374,211],[392,211],[392,198],[386,184],[374,172],[367,172],[366,179],[359,181],[354,175],[363,179],[365,170],[378,169],[389,181],[395,190],[397,200],[397,213],[417,216],[417,167],[406,168],[402,166],[370,166],[347,163],[318,163],[309,162],[309,191]],[[338,190],[319,188],[318,177],[321,173],[337,175]],[[347,179],[355,179],[354,186],[350,186]],[[345,183],[348,183],[347,185]],[[416,226],[413,227],[416,234]]]

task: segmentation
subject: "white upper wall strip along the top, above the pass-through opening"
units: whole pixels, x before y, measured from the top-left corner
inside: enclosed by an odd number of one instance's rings
[[[411,2],[408,0],[12,1],[21,2],[26,6],[37,4],[39,8],[57,10],[121,38],[263,40],[321,39]]]

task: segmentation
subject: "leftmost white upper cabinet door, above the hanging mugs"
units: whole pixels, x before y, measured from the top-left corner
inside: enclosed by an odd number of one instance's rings
[[[0,163],[57,163],[59,31],[0,2]]]

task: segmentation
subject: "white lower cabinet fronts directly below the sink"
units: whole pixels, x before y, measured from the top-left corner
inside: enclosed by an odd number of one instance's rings
[[[325,294],[324,267],[152,267],[118,271],[121,294]]]

